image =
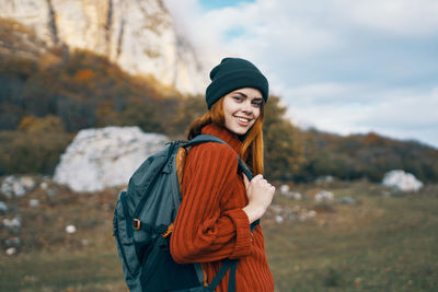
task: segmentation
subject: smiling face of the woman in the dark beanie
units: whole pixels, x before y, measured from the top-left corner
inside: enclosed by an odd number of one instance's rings
[[[258,118],[262,105],[262,93],[256,89],[244,87],[228,93],[223,97],[226,128],[245,135]]]

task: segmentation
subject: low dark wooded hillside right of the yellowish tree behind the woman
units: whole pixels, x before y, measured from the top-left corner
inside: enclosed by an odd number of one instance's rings
[[[343,137],[309,130],[300,136],[306,144],[307,163],[296,180],[332,175],[380,182],[385,172],[404,170],[420,180],[437,182],[438,150],[418,141],[395,140],[374,132]]]

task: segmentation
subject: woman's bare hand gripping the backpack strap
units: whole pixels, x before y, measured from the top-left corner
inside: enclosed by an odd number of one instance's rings
[[[249,203],[242,210],[245,211],[250,223],[253,223],[266,212],[267,207],[273,201],[275,187],[261,174],[254,176],[251,182],[243,174],[243,183],[245,184]]]

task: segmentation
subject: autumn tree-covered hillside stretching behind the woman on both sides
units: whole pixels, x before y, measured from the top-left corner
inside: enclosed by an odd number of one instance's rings
[[[436,149],[377,133],[301,131],[279,101],[270,96],[266,107],[270,179],[310,182],[332,175],[379,182],[387,171],[401,168],[424,182],[438,180]],[[183,96],[153,78],[132,77],[90,51],[47,49],[37,59],[0,55],[0,175],[53,174],[59,155],[84,128],[139,126],[184,139],[189,122],[204,112],[201,96]]]

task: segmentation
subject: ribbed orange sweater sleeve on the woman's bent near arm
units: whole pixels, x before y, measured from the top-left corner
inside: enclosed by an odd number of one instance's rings
[[[176,262],[240,258],[251,253],[250,221],[241,209],[221,210],[220,198],[232,191],[238,160],[229,147],[206,143],[187,157],[183,201],[171,236]]]

